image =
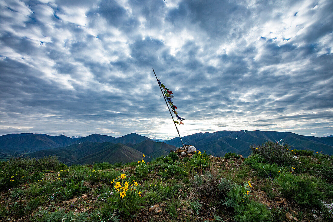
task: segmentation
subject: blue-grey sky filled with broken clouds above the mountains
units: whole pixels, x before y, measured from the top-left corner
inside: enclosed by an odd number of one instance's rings
[[[0,0],[0,135],[333,134],[333,1]]]

